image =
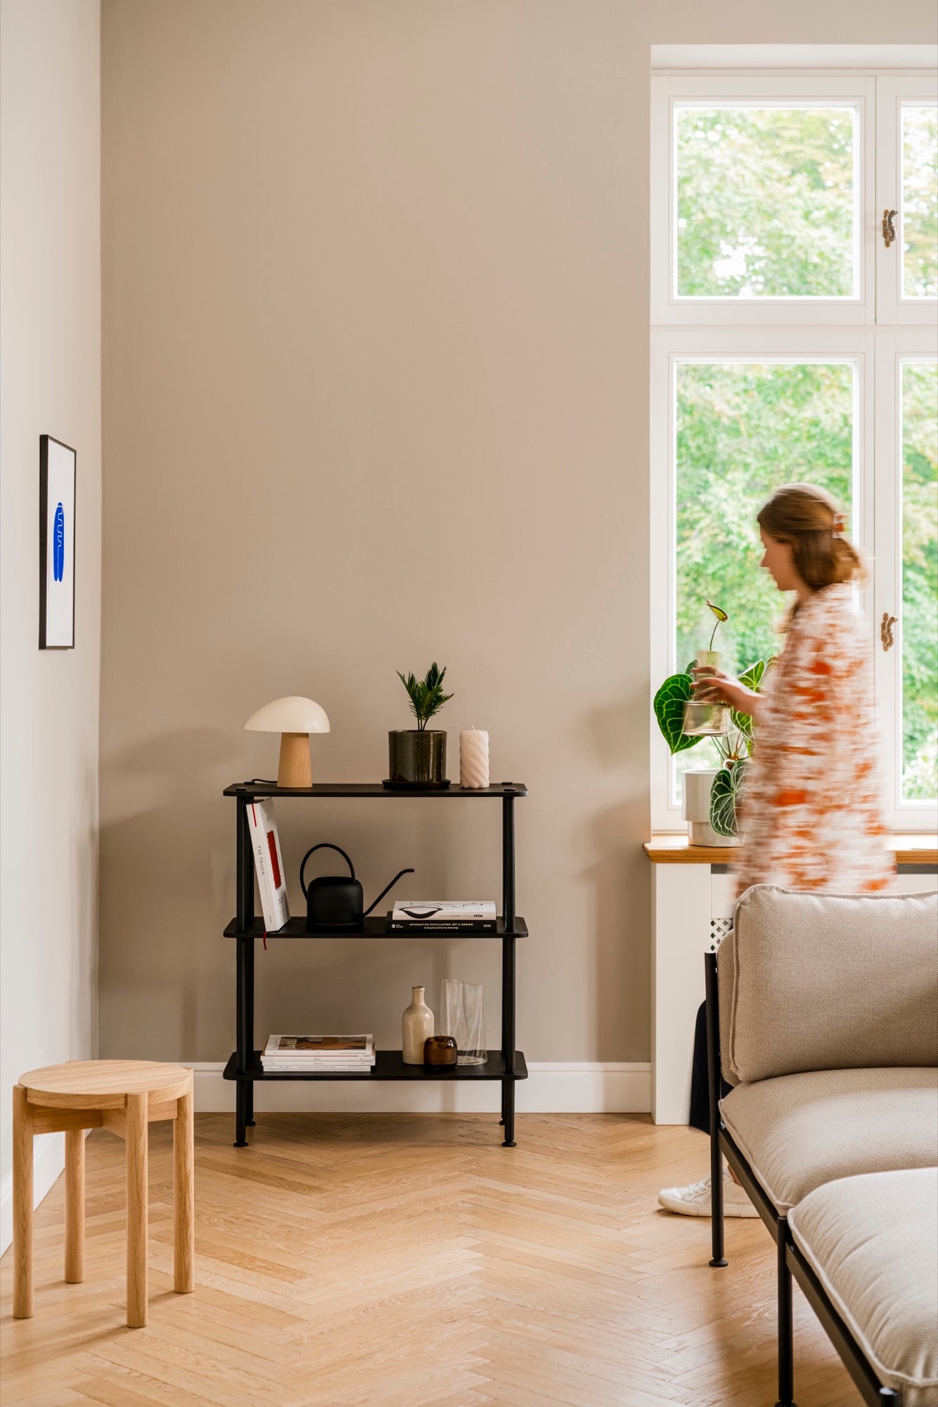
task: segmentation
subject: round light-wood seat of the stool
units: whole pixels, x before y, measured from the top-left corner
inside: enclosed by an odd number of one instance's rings
[[[120,1109],[128,1095],[160,1104],[180,1099],[191,1082],[191,1069],[155,1059],[70,1059],[20,1076],[27,1100],[52,1109]]]

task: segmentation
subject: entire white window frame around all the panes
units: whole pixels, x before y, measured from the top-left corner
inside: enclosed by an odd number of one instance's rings
[[[899,210],[900,111],[908,101],[934,101],[930,76],[856,75],[655,76],[651,80],[651,691],[674,673],[675,613],[675,397],[681,360],[854,360],[855,540],[870,564],[859,605],[868,620],[876,673],[880,770],[887,823],[897,832],[934,830],[938,806],[901,801],[901,635],[885,653],[883,612],[901,620],[901,445],[899,376],[904,357],[930,356],[938,346],[938,300],[901,297],[901,234],[886,250],[883,208]],[[858,190],[862,211],[858,298],[675,298],[674,295],[674,107],[682,100],[754,106],[813,100],[856,104],[862,148]],[[885,155],[883,155],[885,153]],[[879,221],[876,215],[879,214]],[[931,324],[924,326],[923,324]],[[682,830],[672,799],[672,760],[651,718],[651,823]]]

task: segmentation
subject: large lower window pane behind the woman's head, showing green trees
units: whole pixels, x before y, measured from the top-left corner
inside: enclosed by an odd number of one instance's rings
[[[707,644],[706,599],[730,616],[714,643],[728,673],[778,653],[786,598],[759,568],[755,515],[796,480],[827,488],[849,514],[852,474],[851,362],[678,363],[676,668]],[[675,799],[681,770],[707,765],[702,743],[679,754]]]

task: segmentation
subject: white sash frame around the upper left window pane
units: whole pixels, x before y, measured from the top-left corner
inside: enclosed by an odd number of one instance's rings
[[[651,79],[651,321],[741,326],[758,324],[863,324],[873,319],[875,295],[875,166],[868,141],[875,114],[875,79],[869,77],[653,77]],[[678,297],[675,288],[676,170],[674,110],[683,104],[713,107],[728,101],[747,107],[855,107],[854,210],[858,221],[858,277],[852,297],[840,298],[707,298]],[[665,238],[661,238],[661,234]]]

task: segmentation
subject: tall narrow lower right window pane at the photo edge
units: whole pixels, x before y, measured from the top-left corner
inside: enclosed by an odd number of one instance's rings
[[[903,801],[938,796],[938,364],[906,362],[903,414]]]

